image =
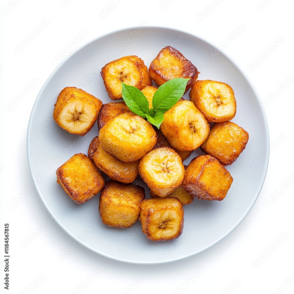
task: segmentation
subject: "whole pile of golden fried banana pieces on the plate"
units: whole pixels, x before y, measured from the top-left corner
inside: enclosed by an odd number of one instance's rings
[[[195,197],[225,198],[232,176],[225,166],[244,150],[248,133],[230,120],[236,113],[233,89],[226,83],[197,80],[198,70],[177,49],[166,46],[149,69],[138,56],[125,56],[101,70],[112,100],[122,98],[122,83],[141,90],[152,107],[157,86],[173,78],[190,78],[190,101],[181,98],[164,113],[160,129],[132,113],[124,102],[101,100],[75,87],[64,88],[54,105],[56,123],[84,136],[97,122],[88,155],[78,153],[57,171],[69,197],[81,204],[101,192],[99,213],[104,224],[128,228],[138,219],[149,240],[178,238],[183,230],[183,206]],[[211,123],[213,125],[211,126]],[[203,155],[183,165],[192,152]],[[103,173],[111,180],[105,183]],[[151,198],[133,182],[140,175]]]

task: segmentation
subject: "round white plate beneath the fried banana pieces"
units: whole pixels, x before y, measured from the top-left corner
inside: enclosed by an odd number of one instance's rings
[[[127,229],[104,225],[98,213],[99,195],[77,205],[56,183],[56,169],[75,153],[87,154],[98,135],[97,125],[84,137],[61,129],[52,119],[56,98],[66,86],[83,88],[111,102],[101,68],[126,55],[138,55],[147,67],[165,46],[181,51],[201,72],[199,79],[233,87],[237,113],[232,120],[249,133],[249,142],[228,170],[233,184],[221,202],[194,201],[184,206],[183,234],[170,241],[152,242],[140,222]],[[184,96],[189,99],[188,93]],[[50,121],[50,122],[49,122]],[[41,127],[40,127],[41,126]],[[52,218],[77,242],[94,252],[129,263],[165,263],[200,253],[225,238],[245,218],[262,188],[268,166],[269,137],[265,114],[253,85],[240,67],[210,42],[183,31],[158,27],[123,29],[97,37],[66,58],[47,79],[34,104],[28,127],[27,154],[31,176]],[[201,154],[194,151],[185,163]],[[39,182],[38,178],[42,178]],[[137,184],[148,191],[141,178]],[[149,197],[148,193],[146,193]]]

